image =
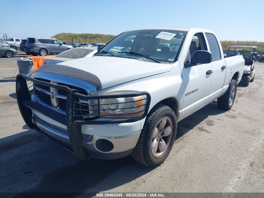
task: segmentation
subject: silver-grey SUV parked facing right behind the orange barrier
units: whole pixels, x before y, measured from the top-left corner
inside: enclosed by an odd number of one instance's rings
[[[55,38],[34,37],[27,38],[24,52],[29,52],[33,56],[46,56],[49,53],[59,54],[67,49],[73,48],[71,45],[64,45]]]

